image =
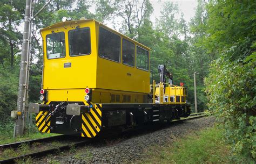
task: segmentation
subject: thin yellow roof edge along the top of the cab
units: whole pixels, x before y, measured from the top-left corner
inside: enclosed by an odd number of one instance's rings
[[[116,33],[116,34],[118,34],[118,35],[121,35],[123,38],[128,38],[129,40],[132,40],[133,42],[135,42],[137,45],[143,46],[143,47],[145,47],[145,48],[147,48],[147,49],[150,50],[149,47],[147,47],[147,46],[145,46],[145,45],[139,43],[139,42],[136,41],[136,40],[133,40],[133,39],[127,37],[126,35],[124,35],[124,34],[118,32],[118,31],[116,31],[116,30],[113,30],[113,29],[110,28],[110,27],[107,27],[106,25],[104,25],[104,24],[98,22],[98,21],[95,20],[95,19],[70,20],[70,21],[66,21],[66,22],[59,22],[59,23],[50,25],[50,26],[48,26],[48,27],[42,28],[42,29],[40,30],[40,32],[43,32],[43,31],[46,31],[46,30],[50,30],[50,29],[56,28],[56,27],[64,27],[64,26],[67,26],[67,25],[74,25],[74,24],[80,24],[80,23],[85,23],[85,22],[95,22],[95,23],[97,23],[98,25],[103,26],[104,28],[107,28],[107,30],[110,30],[110,31],[112,31],[112,32],[114,32],[114,33]]]

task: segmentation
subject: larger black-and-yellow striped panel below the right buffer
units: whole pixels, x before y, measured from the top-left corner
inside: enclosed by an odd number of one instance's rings
[[[91,105],[90,103],[88,103]],[[95,137],[102,129],[102,104],[94,104],[89,113],[82,114],[82,137]]]

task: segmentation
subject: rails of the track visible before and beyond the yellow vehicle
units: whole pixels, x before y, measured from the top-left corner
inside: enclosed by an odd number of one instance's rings
[[[172,122],[182,122],[184,120],[189,120],[189,119],[195,119],[195,118],[200,118],[200,117],[205,117],[208,116],[207,113],[201,112],[201,113],[192,113],[190,115],[190,117],[187,118],[182,118],[182,119],[177,119],[177,120],[172,120]],[[26,144],[26,145],[32,145],[34,143],[45,143],[45,142],[51,142],[51,141],[65,141],[70,139],[70,136],[65,136],[65,135],[60,135],[60,136],[54,136],[54,137],[48,137],[48,138],[42,138],[42,139],[35,139],[35,140],[28,140],[28,141],[21,141],[21,142],[15,142],[15,143],[11,143],[11,144],[4,144],[4,145],[0,145],[0,150],[6,149],[6,148],[18,148],[19,146]],[[73,140],[74,138],[72,138]],[[35,151],[35,152],[31,152],[31,153],[27,153],[27,154],[23,154],[23,155],[18,155],[18,156],[14,156],[8,159],[4,159],[4,160],[0,160],[0,163],[14,163],[16,160],[18,159],[24,159],[24,158],[28,158],[29,156],[31,158],[35,158],[35,157],[41,157],[41,156],[45,156],[47,154],[55,154],[56,152],[61,152],[61,151],[65,151],[65,150],[69,150],[72,146],[84,146],[86,144],[89,144],[93,141],[93,139],[86,139],[86,138],[77,138],[77,141],[75,142],[70,142],[68,144],[62,144],[61,146],[57,146],[54,148],[49,148],[49,149],[44,149],[42,151]]]

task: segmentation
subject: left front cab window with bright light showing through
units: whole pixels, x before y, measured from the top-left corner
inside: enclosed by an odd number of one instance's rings
[[[64,58],[66,56],[64,32],[46,35],[46,51],[48,59]]]

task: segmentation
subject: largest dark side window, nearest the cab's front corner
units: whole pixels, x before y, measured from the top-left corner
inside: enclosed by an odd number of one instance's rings
[[[120,62],[120,37],[99,27],[99,56]]]

